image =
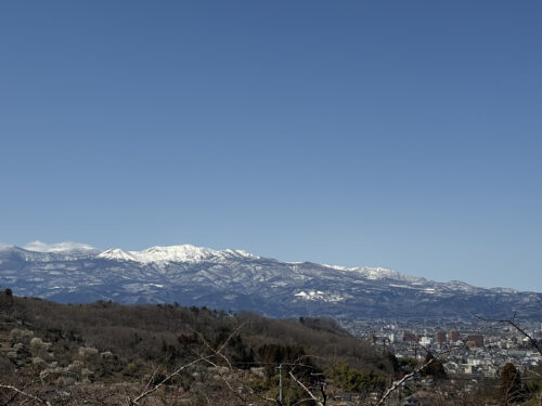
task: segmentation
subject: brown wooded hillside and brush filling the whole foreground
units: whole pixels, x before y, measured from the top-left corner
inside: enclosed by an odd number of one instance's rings
[[[0,292],[2,405],[538,405],[540,370],[474,384],[435,355],[398,359],[332,319]]]

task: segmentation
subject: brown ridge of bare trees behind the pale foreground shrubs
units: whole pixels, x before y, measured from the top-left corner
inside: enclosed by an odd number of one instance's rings
[[[184,351],[188,344],[201,344],[198,335],[217,345],[236,331],[233,341],[238,346],[241,339],[244,350],[256,358],[264,345],[297,345],[326,365],[347,363],[383,372],[392,368],[382,353],[325,318],[271,319],[254,313],[232,314],[175,304],[120,305],[99,301],[65,305],[37,298],[14,298],[11,316],[53,343],[83,343],[130,362],[160,359],[165,353],[179,358],[173,361],[182,361],[189,356]]]

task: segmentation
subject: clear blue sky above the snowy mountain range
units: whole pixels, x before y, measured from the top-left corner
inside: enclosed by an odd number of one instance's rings
[[[540,1],[2,1],[0,241],[542,291]]]

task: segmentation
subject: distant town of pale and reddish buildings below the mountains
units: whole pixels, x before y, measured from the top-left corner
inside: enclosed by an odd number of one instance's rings
[[[449,375],[494,378],[506,363],[526,370],[542,364],[542,356],[516,328],[501,323],[451,320],[357,320],[344,326],[373,345],[391,351],[398,358],[422,359],[427,352],[446,352]],[[542,325],[522,324],[542,345]]]

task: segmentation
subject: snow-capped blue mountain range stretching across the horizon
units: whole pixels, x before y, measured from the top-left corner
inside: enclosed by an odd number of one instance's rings
[[[76,243],[0,246],[0,285],[59,302],[178,302],[271,316],[540,317],[541,293],[437,283],[383,267],[288,263],[180,245],[143,251]]]

